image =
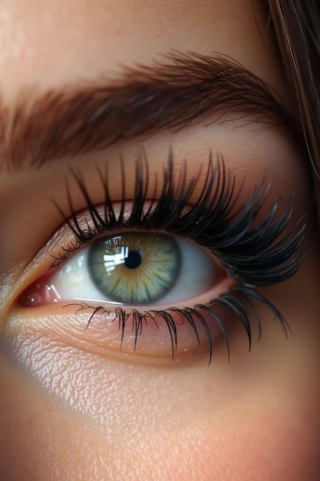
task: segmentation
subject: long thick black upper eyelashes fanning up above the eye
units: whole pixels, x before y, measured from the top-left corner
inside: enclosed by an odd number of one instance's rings
[[[98,235],[114,229],[164,230],[169,234],[188,237],[199,245],[210,249],[220,259],[230,275],[243,286],[259,287],[282,282],[293,276],[305,255],[301,247],[304,240],[306,222],[301,218],[296,225],[280,238],[287,227],[293,211],[293,199],[285,207],[277,220],[280,198],[277,197],[264,219],[256,227],[252,227],[265,203],[272,181],[265,188],[265,177],[260,186],[256,186],[245,202],[236,209],[244,181],[235,194],[235,177],[230,172],[226,174],[223,158],[217,158],[216,168],[213,167],[210,152],[205,182],[200,196],[188,210],[190,200],[198,177],[186,181],[186,168],[180,174],[178,185],[173,179],[173,153],[169,152],[163,187],[158,199],[155,194],[145,211],[149,171],[146,158],[136,161],[135,189],[130,215],[125,216],[125,173],[122,165],[122,197],[120,211],[116,214],[113,201],[108,190],[107,173],[105,178],[98,169],[98,175],[105,193],[104,214],[97,212],[91,202],[89,193],[80,174],[72,171],[89,211],[89,226],[79,225],[74,212],[71,194],[67,189],[71,215],[68,218],[59,205],[56,204],[64,220],[71,228],[75,243],[71,242],[62,253],[54,257],[52,266],[60,266],[69,255],[83,244]],[[216,181],[216,185],[215,185]],[[215,185],[215,188],[214,188]],[[215,190],[213,190],[215,189]],[[178,193],[176,193],[178,191]],[[154,203],[156,201],[156,205]],[[280,238],[280,240],[279,240]]]

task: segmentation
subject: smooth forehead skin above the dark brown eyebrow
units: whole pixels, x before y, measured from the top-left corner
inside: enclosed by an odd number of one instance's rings
[[[257,28],[264,34],[256,2],[8,0],[1,1],[0,25],[6,96],[21,88],[21,79],[45,89],[117,72],[121,63],[148,64],[171,49],[225,53],[281,88],[270,45]]]

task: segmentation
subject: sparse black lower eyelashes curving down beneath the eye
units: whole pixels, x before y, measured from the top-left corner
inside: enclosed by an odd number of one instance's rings
[[[260,320],[258,310],[253,301],[258,301],[266,305],[271,310],[274,317],[279,320],[282,330],[285,334],[285,337],[287,338],[288,331],[291,333],[291,329],[288,323],[286,322],[286,320],[284,319],[284,316],[282,316],[280,311],[272,303],[270,303],[262,294],[248,287],[233,286],[230,288],[229,292],[224,292],[220,294],[219,297],[212,299],[207,304],[195,304],[193,307],[184,307],[183,309],[178,307],[169,307],[163,310],[151,309],[149,311],[144,311],[144,312],[139,312],[136,309],[131,309],[130,312],[128,313],[122,307],[117,307],[115,310],[115,317],[113,321],[119,322],[119,331],[121,333],[120,350],[123,342],[124,330],[130,321],[132,322],[131,329],[134,332],[134,352],[135,352],[139,336],[141,336],[142,334],[143,325],[146,325],[149,320],[156,323],[155,318],[162,317],[166,322],[166,326],[170,334],[172,358],[174,359],[174,353],[177,350],[178,339],[177,339],[176,321],[174,321],[172,314],[173,313],[178,314],[178,316],[181,318],[182,323],[184,323],[185,321],[189,322],[197,338],[198,344],[200,345],[199,332],[192,317],[192,316],[195,316],[200,321],[201,327],[204,330],[204,333],[206,335],[206,340],[209,348],[208,366],[210,366],[211,359],[212,359],[212,350],[213,350],[212,338],[211,338],[208,322],[205,320],[205,318],[201,314],[201,310],[202,310],[209,313],[212,316],[212,320],[218,323],[225,339],[225,344],[226,344],[227,353],[228,353],[228,363],[229,363],[230,348],[229,348],[228,336],[226,334],[222,320],[214,311],[214,308],[223,307],[238,317],[247,334],[248,341],[249,341],[249,351],[250,351],[251,327],[250,327],[249,316],[247,315],[247,308],[245,306],[245,303],[249,304],[249,307],[251,307],[253,313],[255,314],[255,318],[258,325],[258,332],[259,332],[258,340],[261,337],[261,320]],[[71,305],[80,306],[77,309],[76,314],[78,312],[85,311],[85,310],[90,310],[90,309],[93,310],[93,313],[88,320],[86,329],[88,329],[90,322],[92,321],[92,319],[95,317],[97,313],[100,313],[100,314],[105,313],[106,315],[109,315],[111,313],[111,311],[106,310],[103,306],[94,307],[85,303],[66,304],[64,307],[71,306]]]

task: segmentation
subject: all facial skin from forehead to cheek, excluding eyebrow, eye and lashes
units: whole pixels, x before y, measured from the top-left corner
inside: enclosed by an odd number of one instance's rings
[[[254,12],[254,14],[253,14]],[[124,67],[163,62],[175,49],[242,64],[268,83],[295,116],[260,2],[249,0],[0,1],[1,104],[14,109],[22,89],[50,89],[121,78]],[[31,90],[30,90],[31,91]],[[4,108],[3,108],[4,110]],[[150,193],[168,150],[174,170],[186,165],[199,182],[209,152],[223,155],[243,202],[263,176],[274,177],[261,216],[295,193],[292,225],[308,215],[306,249],[317,245],[306,161],[286,128],[251,122],[239,113],[207,114],[173,132],[118,141],[104,150],[63,156],[40,168],[0,172],[0,472],[5,480],[316,480],[319,446],[319,269],[317,248],[297,274],[261,291],[281,311],[288,339],[261,306],[262,336],[252,321],[252,347],[237,319],[228,321],[230,363],[223,338],[213,358],[195,350],[172,362],[110,355],[93,346],[88,315],[61,305],[26,309],[17,298],[52,264],[50,254],[72,240],[53,200],[83,212],[70,167],[90,198],[104,201],[96,166],[108,164],[112,198],[121,199],[119,152],[132,199],[134,158],[148,158]],[[228,120],[228,121],[226,121]],[[94,166],[94,167],[93,167]],[[203,182],[202,182],[203,183]],[[69,237],[68,237],[69,236]],[[221,287],[221,291],[226,287]],[[192,301],[192,304],[194,302]],[[254,316],[251,313],[252,318]],[[77,336],[72,326],[77,326]],[[98,324],[99,325],[99,324]],[[71,327],[70,327],[71,326]],[[81,331],[83,327],[83,331]],[[96,329],[93,323],[93,328]],[[90,336],[92,336],[90,338]],[[75,341],[76,337],[76,341]],[[100,343],[100,344],[99,344]],[[104,344],[103,344],[104,345]],[[139,354],[139,353],[138,353]]]

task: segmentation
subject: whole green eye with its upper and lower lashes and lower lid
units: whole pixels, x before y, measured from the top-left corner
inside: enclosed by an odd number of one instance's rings
[[[135,360],[180,360],[200,346],[209,364],[213,341],[224,339],[229,354],[227,330],[235,319],[250,348],[252,316],[261,330],[256,304],[265,304],[286,332],[282,314],[255,288],[290,278],[305,255],[305,223],[292,225],[292,201],[280,213],[279,198],[266,209],[271,184],[264,179],[240,201],[243,183],[235,191],[224,163],[214,168],[210,158],[194,203],[199,179],[186,183],[182,173],[175,183],[170,159],[151,200],[148,170],[136,164],[129,203],[122,172],[122,200],[113,202],[98,171],[105,195],[99,206],[73,172],[87,209],[74,212],[69,191],[71,215],[57,205],[69,240],[51,254],[52,270],[19,297],[20,307],[36,312],[35,324],[45,318],[58,341]]]

